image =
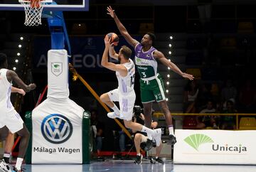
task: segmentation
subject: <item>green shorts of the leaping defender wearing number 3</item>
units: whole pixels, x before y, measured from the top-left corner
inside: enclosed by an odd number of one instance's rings
[[[166,100],[166,96],[164,95],[164,82],[160,75],[154,80],[149,80],[149,82],[140,79],[139,83],[142,103]]]

